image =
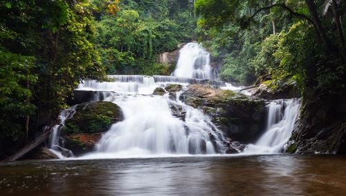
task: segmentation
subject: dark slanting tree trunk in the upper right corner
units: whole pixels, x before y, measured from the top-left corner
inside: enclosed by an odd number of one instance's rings
[[[316,4],[313,0],[305,0],[305,3],[307,4],[313,23],[315,23],[316,30],[318,34],[320,35],[323,43],[325,43],[325,46],[327,46],[327,49],[329,52],[334,53],[335,49],[334,46],[331,44],[330,39],[327,37],[327,34],[325,32],[325,29],[322,27],[322,23],[320,21],[320,18],[318,17],[318,11],[316,8]]]

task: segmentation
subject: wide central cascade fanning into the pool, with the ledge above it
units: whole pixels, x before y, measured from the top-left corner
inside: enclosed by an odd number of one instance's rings
[[[132,93],[134,91],[131,88],[126,88],[136,84],[142,88],[137,92],[152,94],[153,89],[160,86],[158,83],[145,84],[140,77],[137,77],[136,81],[118,78],[122,80],[87,84],[89,87],[80,85],[80,88],[92,87],[96,90],[113,90],[122,86],[125,92],[112,94],[107,98],[122,108],[124,120],[113,124],[96,144],[95,152],[83,158],[224,153],[226,137],[203,112],[183,104],[179,99],[172,100],[167,95]],[[165,81],[159,82],[163,84]],[[180,93],[177,92],[176,97],[179,97]],[[181,117],[176,117],[172,108],[176,108]]]

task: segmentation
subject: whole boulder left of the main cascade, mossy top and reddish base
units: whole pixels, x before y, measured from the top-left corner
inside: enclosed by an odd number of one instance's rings
[[[73,117],[67,119],[62,128],[64,148],[71,150],[73,155],[89,153],[102,133],[118,121],[122,121],[122,112],[112,102],[80,104]]]

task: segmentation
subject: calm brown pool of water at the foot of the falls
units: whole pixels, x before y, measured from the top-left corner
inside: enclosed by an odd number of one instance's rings
[[[346,195],[346,157],[22,161],[0,164],[0,195]]]

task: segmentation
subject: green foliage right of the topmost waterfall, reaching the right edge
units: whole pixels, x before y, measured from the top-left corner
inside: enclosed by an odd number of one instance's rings
[[[198,32],[212,55],[223,59],[221,79],[251,84],[270,75],[275,83],[298,82],[302,89],[344,89],[345,35],[334,19],[346,14],[341,11],[346,5],[338,2],[336,12],[327,10],[329,17],[320,15],[322,6],[302,0],[197,0]]]

